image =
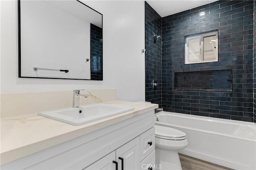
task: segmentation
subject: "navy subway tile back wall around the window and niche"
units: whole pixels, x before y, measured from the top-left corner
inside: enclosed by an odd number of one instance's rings
[[[217,1],[162,18],[165,111],[254,121],[253,14],[254,1]],[[219,31],[219,61],[184,64],[184,36],[214,29]],[[226,69],[233,69],[232,92],[174,90],[175,72]]]

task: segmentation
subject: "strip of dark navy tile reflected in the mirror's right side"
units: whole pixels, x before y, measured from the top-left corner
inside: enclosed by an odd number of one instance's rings
[[[90,24],[91,80],[103,80],[102,73],[102,28]]]

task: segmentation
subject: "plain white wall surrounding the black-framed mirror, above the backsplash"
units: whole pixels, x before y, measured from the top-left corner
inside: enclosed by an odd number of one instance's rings
[[[145,99],[144,1],[83,1],[103,14],[103,81],[18,78],[16,1],[1,1],[1,93],[116,88]]]

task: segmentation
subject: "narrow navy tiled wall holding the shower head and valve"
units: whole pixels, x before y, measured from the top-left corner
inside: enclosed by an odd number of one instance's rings
[[[145,2],[146,39],[146,101],[162,107],[162,40],[154,42],[154,35],[162,35],[162,18]],[[154,83],[158,86],[154,90]]]

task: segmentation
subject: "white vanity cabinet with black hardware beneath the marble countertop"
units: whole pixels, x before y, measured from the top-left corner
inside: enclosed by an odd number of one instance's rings
[[[154,149],[151,110],[3,164],[1,169],[140,170],[143,162],[155,159]]]

